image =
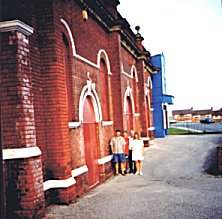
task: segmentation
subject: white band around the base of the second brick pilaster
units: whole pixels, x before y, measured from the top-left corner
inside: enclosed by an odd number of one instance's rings
[[[44,191],[49,189],[68,188],[76,184],[76,180],[73,177],[68,179],[47,180],[43,183]]]

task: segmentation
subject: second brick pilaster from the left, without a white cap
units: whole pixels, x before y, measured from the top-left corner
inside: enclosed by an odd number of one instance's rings
[[[63,41],[59,15],[54,1],[40,1],[38,14],[39,49],[43,74],[45,136],[47,149],[46,180],[71,178],[71,147],[68,128],[68,97],[64,67]],[[50,28],[49,28],[50,27]],[[74,106],[71,106],[73,109]],[[74,110],[73,110],[74,111]],[[74,182],[74,180],[73,180]],[[57,202],[74,199],[74,186],[52,188]]]

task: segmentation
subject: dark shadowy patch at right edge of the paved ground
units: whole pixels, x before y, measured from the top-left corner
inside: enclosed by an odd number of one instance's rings
[[[209,150],[203,165],[204,172],[214,176],[222,176],[222,172],[218,169],[217,148]]]

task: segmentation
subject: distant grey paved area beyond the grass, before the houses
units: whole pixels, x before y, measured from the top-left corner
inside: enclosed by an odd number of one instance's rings
[[[171,127],[181,127],[190,130],[198,130],[203,132],[222,132],[222,123],[211,123],[211,124],[203,124],[199,122],[178,122],[172,124]]]

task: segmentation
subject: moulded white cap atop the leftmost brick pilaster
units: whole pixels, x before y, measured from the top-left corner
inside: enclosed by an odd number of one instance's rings
[[[19,31],[26,36],[33,34],[34,29],[20,20],[0,22],[0,32]]]

